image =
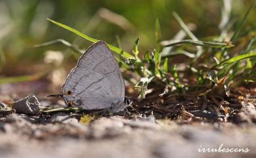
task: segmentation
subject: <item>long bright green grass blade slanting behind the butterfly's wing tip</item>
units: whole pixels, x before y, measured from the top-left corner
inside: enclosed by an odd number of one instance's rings
[[[98,39],[94,39],[92,37],[89,37],[88,35],[85,35],[77,30],[75,30],[74,28],[70,28],[69,26],[66,26],[64,24],[61,24],[60,22],[55,22],[54,20],[51,20],[49,18],[47,18],[47,20],[49,20],[50,22],[53,22],[53,24],[56,24],[57,26],[60,26],[61,28],[64,28],[66,30],[72,31],[73,33],[79,35],[80,37],[83,37],[84,39],[86,39],[87,41],[91,41],[93,43],[99,41]],[[121,49],[118,49],[117,47],[114,47],[113,45],[110,45],[108,43],[106,43],[108,45],[108,47],[110,48],[110,50],[112,50],[113,52],[116,52],[117,54],[121,54],[124,58],[134,58],[131,54],[129,54],[128,52],[125,52]]]

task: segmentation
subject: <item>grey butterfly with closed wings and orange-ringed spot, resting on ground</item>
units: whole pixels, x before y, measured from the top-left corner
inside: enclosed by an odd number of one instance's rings
[[[103,41],[91,45],[79,58],[62,86],[68,106],[83,109],[110,109],[118,112],[125,104],[125,84],[114,55]]]

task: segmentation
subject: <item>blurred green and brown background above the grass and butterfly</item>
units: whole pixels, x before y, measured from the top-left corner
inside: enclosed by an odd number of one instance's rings
[[[232,5],[231,27],[236,27],[252,1],[227,1]],[[91,43],[63,30],[47,20],[66,24],[83,33],[116,45],[116,36],[121,39],[123,49],[131,52],[133,43],[140,37],[140,52],[155,47],[154,30],[156,18],[160,21],[161,40],[172,39],[181,30],[172,15],[175,11],[186,24],[192,23],[193,33],[203,41],[207,36],[219,33],[223,1],[177,1],[177,0],[93,0],[93,1],[47,1],[47,0],[2,0],[0,1],[0,51],[2,75],[30,73],[26,66],[43,64],[46,50],[70,53],[63,45],[33,48],[34,45],[54,39],[64,39],[80,49]],[[228,10],[228,9],[226,9]],[[227,13],[229,14],[229,13]],[[256,28],[253,9],[243,33]],[[20,67],[21,66],[21,67]],[[21,71],[24,67],[24,71]],[[18,70],[16,70],[16,68]]]

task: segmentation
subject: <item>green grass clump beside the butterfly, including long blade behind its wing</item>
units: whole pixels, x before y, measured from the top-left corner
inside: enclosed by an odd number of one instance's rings
[[[226,96],[229,96],[231,85],[255,82],[256,74],[253,71],[256,57],[256,48],[253,47],[255,35],[244,35],[244,38],[248,39],[247,45],[242,50],[232,50],[236,43],[239,44],[238,37],[240,37],[249,12],[254,6],[255,1],[242,20],[238,22],[234,31],[228,30],[222,24],[220,34],[211,37],[211,41],[200,41],[189,30],[181,17],[177,13],[173,13],[181,26],[181,30],[186,33],[187,39],[161,45],[160,22],[157,19],[155,49],[144,53],[140,52],[139,38],[135,41],[132,54],[114,45],[107,45],[120,57],[117,60],[121,67],[139,75],[140,80],[135,84],[135,88],[140,90],[140,98],[145,97],[150,83],[160,81],[166,85],[169,89],[168,92],[171,93],[206,95],[219,87],[223,87]],[[223,12],[223,16],[226,16],[225,12]],[[54,20],[48,20],[88,41],[98,41],[98,39],[89,37],[74,28]],[[223,32],[225,32],[226,37],[223,36]],[[209,39],[209,37],[202,37],[202,39]],[[229,40],[225,41],[224,39]],[[118,40],[117,43],[119,43]],[[167,52],[165,51],[166,48],[169,48]],[[186,56],[186,68],[181,69],[180,64],[171,64],[170,61],[173,61],[174,56]]]

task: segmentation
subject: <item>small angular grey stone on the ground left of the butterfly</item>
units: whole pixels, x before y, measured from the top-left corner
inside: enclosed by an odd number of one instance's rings
[[[41,103],[34,95],[22,98],[12,104],[12,108],[16,110],[16,113],[26,113],[29,115],[39,115],[39,106],[41,106]]]

